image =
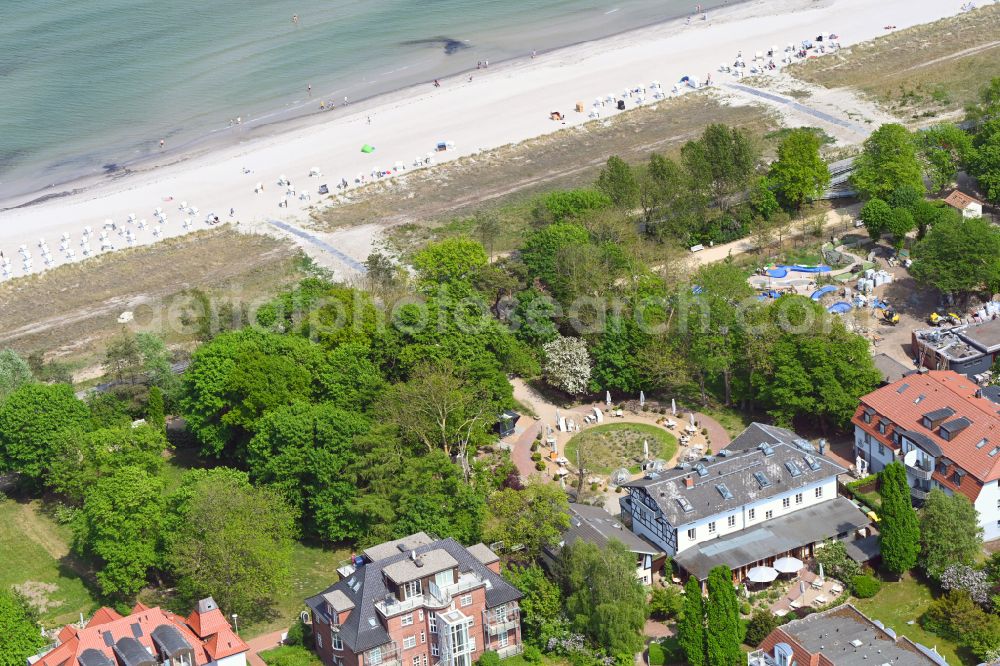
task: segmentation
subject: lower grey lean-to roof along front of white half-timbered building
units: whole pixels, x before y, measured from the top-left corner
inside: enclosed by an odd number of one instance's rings
[[[709,570],[720,564],[738,569],[870,523],[871,519],[850,500],[837,497],[772,518],[756,527],[703,541],[678,553],[674,561],[699,580],[705,580]]]

